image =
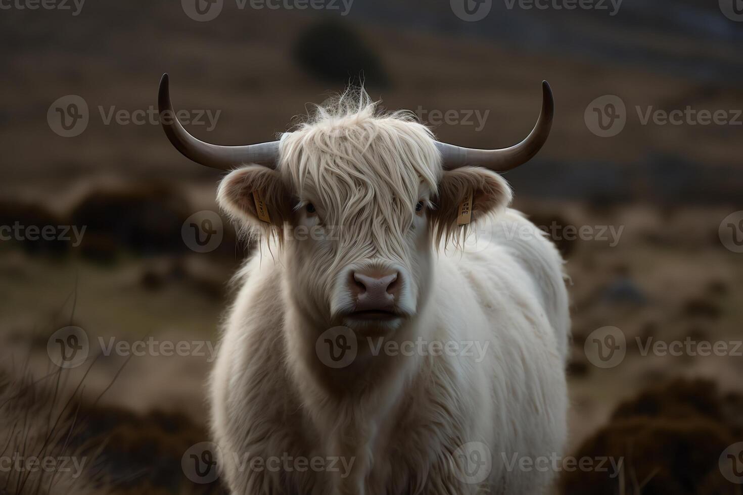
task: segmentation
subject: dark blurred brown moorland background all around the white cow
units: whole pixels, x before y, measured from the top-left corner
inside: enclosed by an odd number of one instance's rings
[[[739,410],[741,358],[643,355],[635,338],[743,338],[743,254],[733,242],[733,235],[743,238],[743,22],[725,15],[733,7],[727,0],[624,0],[618,10],[608,1],[600,2],[606,10],[565,10],[557,0],[542,3],[545,9],[493,0],[481,4],[490,11],[476,22],[456,15],[457,1],[354,0],[343,15],[340,1],[332,3],[337,10],[299,10],[292,1],[241,9],[224,0],[208,22],[190,18],[187,1],[88,0],[77,15],[71,3],[71,10],[3,4],[10,8],[0,10],[0,226],[86,230],[78,246],[0,240],[0,390],[26,393],[27,381],[47,377],[32,387],[32,406],[16,404],[16,413],[7,405],[15,402],[2,406],[0,447],[4,436],[12,447],[23,445],[18,432],[35,431],[11,428],[16,419],[47,415],[43,404],[56,414],[65,405],[60,397],[74,397],[89,410],[88,434],[72,430],[75,447],[96,459],[91,479],[105,480],[114,493],[218,491],[216,483],[191,485],[180,466],[189,445],[208,439],[207,358],[135,356],[117,374],[126,358],[102,356],[85,378],[87,365],[56,380],[46,352],[50,335],[69,324],[91,341],[217,338],[227,281],[249,246],[223,218],[215,225],[221,243],[195,252],[183,227],[192,214],[217,212],[220,174],[178,154],[157,122],[104,118],[112,107],[127,114],[154,108],[162,73],[170,74],[176,110],[221,112],[213,129],[186,125],[220,144],[271,140],[308,103],[361,77],[372,98],[418,113],[440,140],[504,147],[531,130],[546,79],[556,100],[551,137],[505,177],[516,208],[539,226],[555,226],[550,235],[567,260],[575,336],[571,452],[624,452],[629,440],[590,450],[592,438],[616,433],[615,426],[617,438],[639,436],[629,450],[643,459],[628,468],[624,493],[740,493],[739,485],[710,481],[721,449],[707,442],[717,437],[704,427],[727,432],[720,445],[742,439],[730,427],[741,423],[730,413]],[[63,137],[55,131],[56,108],[64,111],[69,95],[85,101],[88,125]],[[606,95],[626,108],[626,125],[612,137],[594,134],[586,118],[594,108],[606,111]],[[687,107],[724,111],[734,122],[643,124],[638,115]],[[455,117],[435,122],[436,111]],[[474,117],[467,122],[475,112],[488,112],[481,128]],[[596,235],[571,240],[568,226]],[[616,242],[597,235],[609,226],[622,229]],[[584,347],[603,327],[617,327],[627,341],[626,358],[607,369]],[[710,381],[666,385],[679,377]],[[81,380],[84,390],[76,393]],[[52,401],[45,394],[53,390],[61,392]],[[651,405],[639,396],[645,405],[623,413],[636,424],[616,426],[617,404],[641,390],[655,390]],[[672,413],[681,423],[669,432],[659,426],[669,424],[659,419],[666,409],[692,412]],[[30,434],[36,437],[44,435]],[[680,461],[658,445],[696,456]],[[650,450],[644,459],[641,452]],[[679,473],[686,477],[676,486]],[[575,475],[562,490],[620,493],[617,480],[596,481],[595,474]],[[594,481],[599,488],[591,488]],[[82,484],[100,491],[100,483]],[[15,493],[30,482],[5,485]]]

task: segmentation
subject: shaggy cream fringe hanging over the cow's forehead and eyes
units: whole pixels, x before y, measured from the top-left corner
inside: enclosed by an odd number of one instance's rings
[[[352,88],[285,134],[281,150],[283,181],[340,227],[337,263],[406,258],[415,205],[441,178],[433,134],[413,114],[383,113]]]

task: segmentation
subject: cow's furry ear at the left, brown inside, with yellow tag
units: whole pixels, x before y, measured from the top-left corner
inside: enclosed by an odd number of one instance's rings
[[[247,165],[230,172],[219,184],[217,202],[250,229],[282,229],[293,213],[291,194],[281,177],[262,165]]]

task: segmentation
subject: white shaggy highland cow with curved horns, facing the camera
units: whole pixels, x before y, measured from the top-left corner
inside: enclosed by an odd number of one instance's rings
[[[497,172],[533,157],[552,115],[545,82],[531,134],[498,150],[437,142],[363,91],[256,145],[163,119],[186,157],[230,171],[218,202],[259,240],[211,377],[233,494],[548,490],[554,472],[522,461],[565,444],[562,260]]]

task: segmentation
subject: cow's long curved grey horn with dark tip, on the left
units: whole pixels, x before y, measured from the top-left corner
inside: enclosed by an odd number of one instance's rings
[[[189,134],[173,112],[168,79],[168,74],[163,74],[163,78],[160,79],[158,111],[163,130],[175,149],[196,163],[221,170],[231,170],[242,163],[259,163],[276,168],[276,159],[279,156],[278,141],[245,146],[221,146],[197,140]]]

